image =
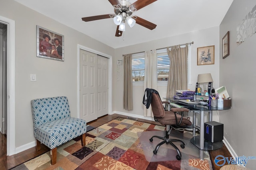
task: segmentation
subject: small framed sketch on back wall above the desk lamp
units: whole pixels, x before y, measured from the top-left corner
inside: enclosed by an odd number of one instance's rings
[[[214,64],[214,45],[197,48],[197,65]]]

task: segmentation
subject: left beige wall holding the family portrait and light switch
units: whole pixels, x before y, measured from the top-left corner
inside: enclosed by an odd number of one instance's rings
[[[0,4],[0,16],[16,24],[15,146],[20,147],[35,141],[30,100],[67,96],[77,117],[78,44],[110,56],[114,49],[13,0]],[[36,25],[64,35],[64,62],[36,57]],[[36,74],[36,82],[30,82],[30,74]]]

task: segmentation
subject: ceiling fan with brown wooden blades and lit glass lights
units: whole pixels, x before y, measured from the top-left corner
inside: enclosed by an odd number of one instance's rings
[[[156,24],[144,20],[138,16],[132,16],[133,12],[140,10],[141,8],[157,1],[157,0],[137,0],[133,4],[129,0],[108,0],[114,7],[114,14],[105,14],[99,16],[90,16],[82,18],[83,21],[102,20],[106,18],[114,18],[114,23],[117,25],[116,37],[122,36],[122,32],[125,31],[125,21],[130,27],[133,27],[135,23],[142,25],[148,29],[156,28]]]

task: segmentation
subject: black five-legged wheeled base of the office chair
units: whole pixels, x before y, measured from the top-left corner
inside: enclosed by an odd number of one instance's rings
[[[174,149],[176,149],[176,151],[178,152],[178,154],[176,155],[176,159],[177,159],[177,160],[181,160],[181,153],[180,153],[180,150],[179,150],[178,147],[176,147],[176,145],[174,145],[174,143],[172,143],[172,142],[180,142],[180,143],[182,143],[182,144],[180,145],[180,147],[181,147],[182,149],[184,149],[184,148],[185,148],[185,143],[184,143],[182,140],[179,140],[179,139],[169,139],[168,131],[166,131],[166,137],[152,136],[152,137],[149,139],[150,142],[153,141],[153,137],[156,137],[156,138],[158,138],[158,139],[162,139],[162,140],[163,140],[162,142],[160,142],[160,143],[158,143],[158,144],[156,145],[156,148],[153,150],[153,153],[154,153],[154,154],[157,154],[157,151],[158,151],[159,147],[160,147],[161,145],[163,145],[164,143],[166,143],[166,144],[172,145],[172,147],[174,147]]]

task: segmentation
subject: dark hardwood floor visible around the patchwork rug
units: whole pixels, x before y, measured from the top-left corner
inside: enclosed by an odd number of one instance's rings
[[[94,121],[88,122],[87,124],[93,127],[98,127],[100,125],[103,125],[104,123],[107,123],[108,121],[111,121],[112,119],[115,119],[116,117],[126,118],[127,116],[118,115],[118,114],[105,115]],[[158,122],[148,121],[145,119],[138,119],[138,121],[160,125],[160,123]],[[1,146],[0,148],[0,169],[1,170],[8,170],[10,168],[13,168],[19,164],[22,164],[23,162],[26,162],[50,150],[48,147],[42,145],[41,150],[38,152],[36,151],[36,147],[33,147],[31,149],[25,150],[15,155],[6,156],[6,136],[3,135],[2,133],[0,133],[0,146]],[[225,147],[225,145],[223,145],[221,149],[210,151],[210,156],[212,158],[212,165],[215,170],[219,170],[221,168],[214,164],[214,158],[220,154],[225,157],[231,157],[231,154],[228,152],[228,149]]]

